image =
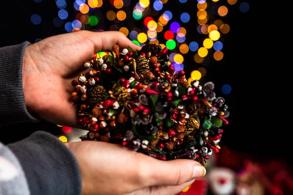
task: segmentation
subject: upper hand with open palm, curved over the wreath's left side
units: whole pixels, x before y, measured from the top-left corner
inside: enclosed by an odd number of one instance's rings
[[[59,125],[77,126],[76,107],[70,94],[71,81],[85,69],[84,61],[95,52],[111,49],[141,47],[119,32],[80,31],[53,36],[29,45],[23,59],[23,92],[27,110]]]

